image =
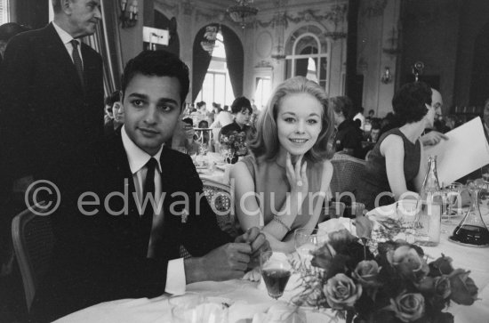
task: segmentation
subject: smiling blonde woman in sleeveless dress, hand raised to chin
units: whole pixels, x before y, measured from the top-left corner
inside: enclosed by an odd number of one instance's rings
[[[333,110],[324,89],[305,77],[278,85],[261,112],[252,154],[230,173],[242,230],[261,227],[274,251],[293,252],[293,232],[312,231],[333,176],[327,142]],[[250,194],[252,193],[252,194]]]

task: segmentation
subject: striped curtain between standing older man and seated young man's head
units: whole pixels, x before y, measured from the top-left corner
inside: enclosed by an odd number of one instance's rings
[[[119,36],[119,8],[116,1],[100,1],[102,19],[97,31],[84,41],[102,56],[104,92],[107,96],[121,90],[123,72],[122,49]]]

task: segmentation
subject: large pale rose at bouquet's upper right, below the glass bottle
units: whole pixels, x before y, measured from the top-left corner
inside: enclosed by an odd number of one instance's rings
[[[429,272],[428,264],[411,246],[398,246],[394,251],[389,250],[387,260],[402,276],[409,279],[419,281]]]

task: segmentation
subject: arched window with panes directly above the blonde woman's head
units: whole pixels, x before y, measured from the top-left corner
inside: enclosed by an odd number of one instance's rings
[[[285,75],[308,77],[325,90],[329,86],[329,45],[316,26],[297,29],[285,45]]]

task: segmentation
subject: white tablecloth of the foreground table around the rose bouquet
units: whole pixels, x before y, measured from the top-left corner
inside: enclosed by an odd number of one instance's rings
[[[489,223],[489,208],[483,211],[485,223]],[[453,313],[455,323],[489,323],[489,248],[464,246],[453,243],[448,238],[461,220],[442,223],[440,243],[437,246],[423,246],[429,261],[445,254],[453,259],[453,268],[470,271],[478,287],[478,299],[471,306],[451,303],[446,311]],[[261,281],[250,279],[232,279],[227,281],[202,281],[187,285],[187,294],[203,295],[215,302],[228,305],[229,323],[264,322],[263,315],[277,308],[297,311],[290,302],[298,290],[290,285],[297,284],[297,279],[289,280],[284,295],[278,300],[269,297],[266,287]],[[172,306],[170,295],[156,298],[123,299],[99,303],[81,311],[76,311],[56,322],[172,322]],[[274,310],[274,311],[275,311]],[[294,322],[324,323],[341,322],[329,309],[300,308],[301,319]],[[261,317],[260,317],[261,315]],[[280,320],[278,320],[280,321]]]

